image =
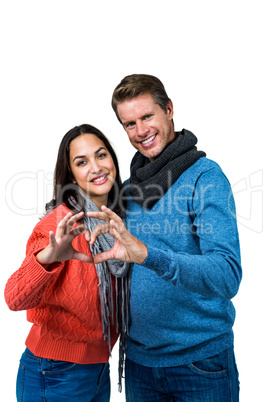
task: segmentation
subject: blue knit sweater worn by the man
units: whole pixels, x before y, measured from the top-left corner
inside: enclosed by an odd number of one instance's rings
[[[133,199],[127,227],[148,247],[134,265],[127,357],[188,364],[233,343],[231,299],[242,272],[235,205],[221,168],[200,158],[151,210]]]

